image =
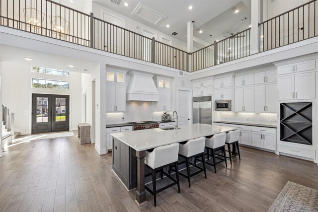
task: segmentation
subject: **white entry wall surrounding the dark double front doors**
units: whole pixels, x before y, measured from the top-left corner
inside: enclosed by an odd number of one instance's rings
[[[81,75],[70,72],[70,76],[57,76],[31,72],[31,65],[2,62],[2,103],[15,113],[15,132],[22,135],[31,133],[31,94],[52,93],[70,95],[70,130],[77,130],[81,122]],[[47,67],[54,68],[54,67]],[[32,77],[54,79],[70,82],[70,90],[55,90],[45,88],[32,88]]]

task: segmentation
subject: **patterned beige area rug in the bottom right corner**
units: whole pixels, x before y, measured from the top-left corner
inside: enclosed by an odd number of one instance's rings
[[[318,212],[318,190],[288,181],[268,212]]]

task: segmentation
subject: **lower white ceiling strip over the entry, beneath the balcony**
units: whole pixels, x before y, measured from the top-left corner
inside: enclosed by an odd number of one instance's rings
[[[0,61],[14,64],[23,64],[30,66],[39,66],[64,71],[75,71],[81,73],[92,73],[98,66],[91,61],[79,60],[71,57],[48,54],[44,52],[30,51],[23,48],[0,45]],[[32,61],[26,61],[24,58],[31,58]],[[70,68],[68,65],[74,65]],[[83,71],[83,70],[88,71]]]

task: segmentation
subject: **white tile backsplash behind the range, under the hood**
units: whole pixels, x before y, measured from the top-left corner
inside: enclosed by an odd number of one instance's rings
[[[106,113],[106,124],[159,121],[163,112],[155,112],[155,107],[155,102],[127,101],[125,113]]]

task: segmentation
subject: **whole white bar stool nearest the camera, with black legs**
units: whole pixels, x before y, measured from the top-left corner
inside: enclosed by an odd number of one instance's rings
[[[177,184],[178,186],[178,193],[180,193],[180,184],[179,184],[179,173],[177,169],[178,164],[178,152],[179,152],[179,143],[172,143],[170,145],[165,146],[159,146],[157,148],[154,148],[152,152],[146,152],[146,158],[145,158],[145,165],[146,167],[151,169],[151,173],[146,174],[145,176],[152,175],[153,177],[153,191],[145,186],[146,190],[149,191],[154,196],[154,203],[156,204],[156,196],[157,193]],[[174,165],[176,169],[176,179],[173,179],[171,176],[169,176],[167,173],[165,173],[162,169],[166,166],[172,166]],[[156,190],[156,173],[158,171],[161,171],[161,178],[162,173],[167,176],[169,179],[173,181],[173,183]]]

